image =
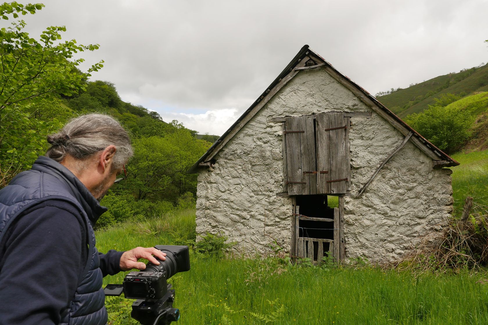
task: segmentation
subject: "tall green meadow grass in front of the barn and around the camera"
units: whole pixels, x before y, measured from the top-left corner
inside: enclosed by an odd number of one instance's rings
[[[179,244],[195,210],[97,231],[98,247]],[[122,283],[126,272],[104,278]],[[297,267],[276,258],[197,258],[170,279],[177,324],[488,324],[488,274],[423,275],[380,268]],[[138,324],[132,300],[107,297],[111,325]]]

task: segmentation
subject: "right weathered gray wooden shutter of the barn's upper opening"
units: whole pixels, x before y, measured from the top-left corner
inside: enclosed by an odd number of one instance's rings
[[[317,114],[317,193],[346,193],[350,182],[349,118]]]

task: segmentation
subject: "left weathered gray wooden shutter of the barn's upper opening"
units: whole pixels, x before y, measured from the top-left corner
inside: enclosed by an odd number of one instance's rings
[[[286,117],[286,173],[289,195],[317,193],[313,116]]]

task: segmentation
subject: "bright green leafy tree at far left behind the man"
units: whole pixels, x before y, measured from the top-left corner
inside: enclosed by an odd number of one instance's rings
[[[19,14],[35,14],[43,7],[41,3],[4,2],[0,4],[0,21],[17,19]],[[25,21],[19,19],[0,29],[2,186],[32,164],[47,147],[46,135],[59,129],[63,118],[70,115],[69,111],[61,114],[60,103],[55,100],[83,91],[90,73],[103,66],[100,61],[85,73],[77,68],[83,59],[73,59],[73,55],[94,51],[99,45],[78,45],[74,39],[62,42],[64,26],[47,27],[39,39],[30,37],[25,26]],[[50,115],[49,111],[60,114]]]

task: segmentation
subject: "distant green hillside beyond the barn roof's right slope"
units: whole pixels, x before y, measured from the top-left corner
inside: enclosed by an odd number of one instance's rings
[[[422,112],[441,94],[466,96],[484,91],[488,91],[488,64],[437,76],[391,94],[378,96],[377,99],[396,115],[405,117]]]

